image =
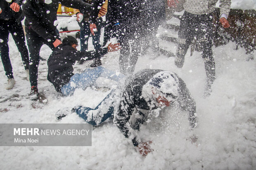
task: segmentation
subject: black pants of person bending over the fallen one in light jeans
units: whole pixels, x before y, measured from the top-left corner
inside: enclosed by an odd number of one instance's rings
[[[58,36],[58,33],[55,33]],[[55,48],[52,42],[48,42],[43,37],[35,36],[30,33],[26,34],[29,50],[29,81],[31,86],[37,86],[38,65],[40,61],[39,52],[43,44],[46,44],[52,50]]]

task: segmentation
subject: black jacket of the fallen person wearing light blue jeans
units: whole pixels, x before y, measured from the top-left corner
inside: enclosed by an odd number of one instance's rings
[[[107,54],[107,48],[101,48],[95,51],[77,51],[68,44],[60,44],[52,51],[47,65],[48,75],[47,79],[51,82],[56,91],[60,92],[60,88],[69,83],[73,74],[73,65],[81,58],[85,60],[92,60]]]

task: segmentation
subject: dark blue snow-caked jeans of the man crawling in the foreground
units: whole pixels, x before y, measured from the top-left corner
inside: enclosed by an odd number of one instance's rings
[[[95,109],[90,107],[77,106],[73,108],[81,118],[91,125],[98,126],[108,118],[114,116],[114,106],[116,104],[116,91],[113,89]]]

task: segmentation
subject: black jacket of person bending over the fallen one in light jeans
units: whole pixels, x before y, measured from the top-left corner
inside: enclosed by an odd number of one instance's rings
[[[59,3],[66,7],[72,7],[84,11],[90,11],[91,5],[81,0],[52,0],[52,3],[43,3],[43,0],[25,0],[22,8],[26,16],[26,33],[41,36],[45,40],[55,42],[54,36],[57,24],[57,10]]]

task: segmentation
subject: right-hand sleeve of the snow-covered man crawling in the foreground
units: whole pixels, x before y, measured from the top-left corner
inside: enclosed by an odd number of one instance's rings
[[[196,102],[192,98],[185,82],[179,78],[179,98],[178,102],[180,103],[181,109],[189,112],[188,120],[190,122],[190,128],[195,128],[197,126],[197,117],[196,117]]]

